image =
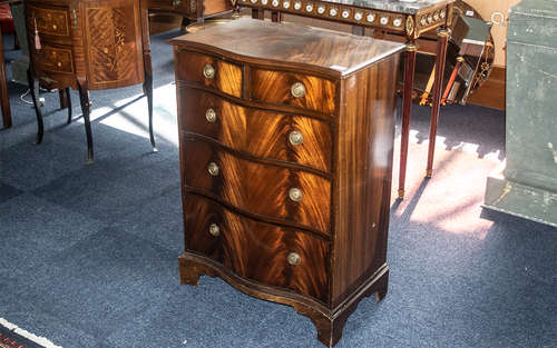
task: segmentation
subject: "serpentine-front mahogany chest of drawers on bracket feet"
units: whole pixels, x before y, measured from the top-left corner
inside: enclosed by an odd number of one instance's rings
[[[218,276],[292,306],[334,346],[360,300],[387,295],[404,46],[253,19],[170,43],[182,282]]]

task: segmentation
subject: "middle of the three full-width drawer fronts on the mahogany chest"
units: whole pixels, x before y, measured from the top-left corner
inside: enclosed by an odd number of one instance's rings
[[[183,140],[184,183],[262,217],[330,235],[331,182],[305,171],[252,162],[206,141]]]

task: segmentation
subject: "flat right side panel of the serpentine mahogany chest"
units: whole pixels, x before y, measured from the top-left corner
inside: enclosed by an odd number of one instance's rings
[[[399,57],[342,81],[334,191],[332,302],[382,267],[387,257]]]

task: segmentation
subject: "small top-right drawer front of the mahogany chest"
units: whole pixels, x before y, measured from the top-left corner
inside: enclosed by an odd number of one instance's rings
[[[335,84],[325,79],[253,69],[252,99],[323,113],[335,113]]]

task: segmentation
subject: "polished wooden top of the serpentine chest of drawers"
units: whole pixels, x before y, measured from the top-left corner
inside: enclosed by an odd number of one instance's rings
[[[294,23],[242,18],[168,41],[229,59],[342,78],[404,49],[404,44]]]

